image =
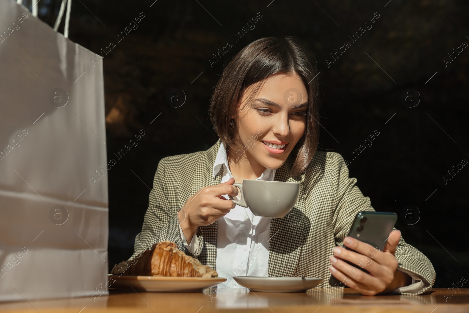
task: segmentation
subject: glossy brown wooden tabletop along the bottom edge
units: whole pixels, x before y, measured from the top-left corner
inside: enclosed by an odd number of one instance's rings
[[[469,289],[432,289],[419,296],[363,296],[350,288],[313,288],[303,293],[252,292],[245,288],[196,293],[121,292],[109,296],[34,300],[0,304],[0,312],[28,313],[459,313],[469,312]]]

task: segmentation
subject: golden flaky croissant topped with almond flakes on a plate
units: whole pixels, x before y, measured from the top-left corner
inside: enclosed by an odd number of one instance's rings
[[[153,244],[131,261],[114,265],[113,275],[173,277],[218,277],[218,273],[199,260],[186,255],[171,241]]]

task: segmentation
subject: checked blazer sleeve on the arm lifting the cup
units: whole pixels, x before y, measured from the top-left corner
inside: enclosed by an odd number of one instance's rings
[[[187,255],[197,258],[204,245],[200,228],[197,229],[197,239],[199,241],[199,249],[197,253],[191,253],[182,242],[177,207],[178,199],[175,196],[176,191],[170,191],[166,188],[166,181],[177,180],[172,173],[165,172],[165,159],[158,163],[153,179],[153,189],[148,197],[148,209],[144,216],[142,231],[135,237],[134,254],[129,260],[150,249],[151,246],[160,241],[169,240],[177,244],[179,250]]]

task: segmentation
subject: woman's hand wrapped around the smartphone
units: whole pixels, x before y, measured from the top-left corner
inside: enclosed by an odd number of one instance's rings
[[[363,295],[376,295],[380,292],[390,292],[396,288],[407,286],[412,282],[411,277],[397,269],[398,261],[394,256],[400,238],[401,231],[392,231],[384,250],[380,251],[356,238],[345,237],[344,245],[356,252],[335,247],[333,249],[334,255],[329,258],[332,263],[329,271],[339,281],[360,291]],[[370,274],[343,260],[348,260],[366,269]]]

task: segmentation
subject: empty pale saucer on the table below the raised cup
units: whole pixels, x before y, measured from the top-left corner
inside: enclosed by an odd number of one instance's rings
[[[318,286],[323,278],[236,276],[241,286],[261,292],[304,292]]]

